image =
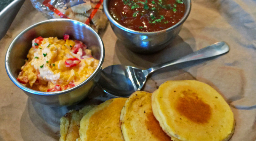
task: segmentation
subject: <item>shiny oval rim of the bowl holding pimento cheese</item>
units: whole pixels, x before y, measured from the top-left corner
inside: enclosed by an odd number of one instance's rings
[[[63,91],[58,91],[58,92],[41,92],[41,91],[35,91],[33,89],[29,89],[29,88],[23,86],[21,83],[19,83],[10,71],[11,69],[10,69],[10,66],[8,65],[10,50],[13,48],[14,43],[19,39],[19,37],[22,36],[23,34],[25,34],[30,29],[32,29],[34,27],[37,27],[38,25],[42,25],[42,24],[49,23],[49,22],[56,22],[56,21],[58,21],[58,22],[60,22],[60,21],[76,22],[76,23],[79,23],[79,24],[82,24],[82,25],[86,26],[93,34],[95,34],[98,41],[100,41],[100,48],[102,50],[101,51],[101,58],[99,60],[99,64],[98,64],[97,68],[94,70],[93,74],[90,75],[90,77],[88,77],[85,81],[78,84],[77,86],[74,86],[73,88],[66,89],[66,90],[63,90]],[[85,85],[87,82],[91,81],[94,78],[94,76],[101,70],[101,67],[102,67],[102,64],[103,64],[103,61],[104,61],[104,56],[105,56],[105,49],[104,49],[104,44],[102,42],[102,39],[99,36],[99,34],[95,30],[93,30],[93,28],[91,28],[89,25],[86,25],[82,22],[79,22],[77,20],[72,20],[72,19],[50,19],[50,20],[44,20],[42,22],[38,22],[34,25],[31,25],[31,26],[27,27],[25,30],[21,31],[21,33],[19,33],[13,39],[13,41],[9,45],[8,50],[6,52],[6,55],[5,55],[5,69],[6,69],[6,72],[7,72],[8,76],[10,77],[11,81],[13,81],[13,83],[16,86],[18,86],[20,89],[22,89],[23,91],[26,91],[26,92],[29,92],[29,93],[32,93],[32,94],[36,94],[36,95],[42,95],[42,96],[50,95],[50,96],[53,96],[53,95],[60,95],[60,94],[69,93],[69,92],[73,91],[74,89],[78,89],[78,88],[82,87],[83,85]]]

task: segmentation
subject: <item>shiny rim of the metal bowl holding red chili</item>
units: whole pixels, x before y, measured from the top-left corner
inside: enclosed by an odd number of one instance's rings
[[[109,9],[108,9],[108,2],[109,0],[104,0],[103,1],[103,9],[104,9],[104,12],[107,16],[107,18],[110,20],[110,22],[112,22],[112,24],[114,24],[115,26],[117,26],[118,28],[124,30],[124,31],[127,31],[129,33],[133,33],[133,34],[143,34],[143,35],[155,35],[155,34],[159,34],[159,33],[165,33],[165,32],[168,32],[168,31],[171,31],[171,30],[174,30],[176,27],[179,27],[180,25],[182,25],[185,20],[187,19],[187,17],[189,16],[189,13],[190,13],[190,10],[191,10],[191,0],[187,0],[187,6],[186,6],[186,12],[184,14],[184,16],[182,17],[182,19],[175,25],[169,27],[169,28],[166,28],[164,30],[160,30],[160,31],[154,31],[154,32],[142,32],[142,31],[136,31],[136,30],[131,30],[127,27],[124,27],[123,25],[120,25],[117,21],[115,21],[112,16],[109,14]]]

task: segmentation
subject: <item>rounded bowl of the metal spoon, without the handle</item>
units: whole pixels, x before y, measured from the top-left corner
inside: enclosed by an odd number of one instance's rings
[[[142,89],[147,75],[146,70],[117,64],[102,70],[99,84],[109,94],[117,97],[128,97],[134,91]]]

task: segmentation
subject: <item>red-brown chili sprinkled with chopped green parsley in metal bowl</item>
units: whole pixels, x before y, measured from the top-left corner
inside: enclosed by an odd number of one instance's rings
[[[111,0],[108,9],[119,24],[143,32],[169,28],[185,13],[183,0]]]

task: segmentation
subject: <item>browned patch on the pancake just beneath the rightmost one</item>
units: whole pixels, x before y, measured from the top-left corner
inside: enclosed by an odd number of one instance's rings
[[[159,122],[155,119],[152,112],[147,112],[147,120],[145,124],[147,129],[154,135],[159,141],[172,141],[170,136],[168,136],[160,127]]]

